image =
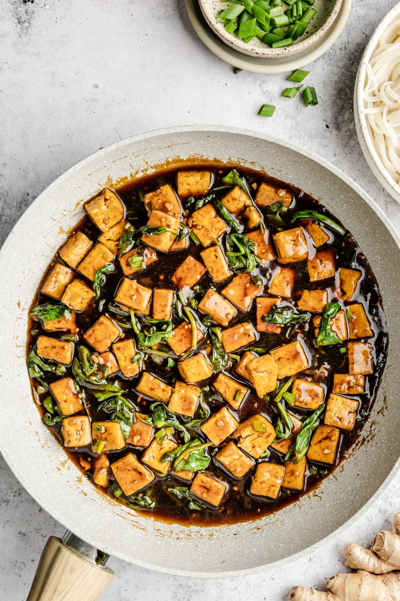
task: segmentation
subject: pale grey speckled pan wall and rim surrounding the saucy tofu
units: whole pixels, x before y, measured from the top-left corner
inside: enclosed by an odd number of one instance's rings
[[[389,358],[372,414],[333,475],[300,502],[254,522],[199,528],[158,522],[110,499],[82,476],[41,422],[25,365],[29,305],[83,201],[166,164],[201,157],[237,162],[320,198],[356,237],[378,279]],[[375,203],[320,157],[266,135],[216,126],[145,133],[102,148],[35,200],[0,252],[0,451],[26,490],[55,519],[111,555],[184,576],[237,576],[309,554],[380,495],[399,467],[400,240]],[[350,522],[349,522],[350,520]]]

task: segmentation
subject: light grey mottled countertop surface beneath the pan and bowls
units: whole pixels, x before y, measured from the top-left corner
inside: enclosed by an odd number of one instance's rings
[[[357,67],[394,0],[353,0],[341,37],[311,64],[320,103],[280,96],[284,75],[234,75],[193,31],[184,0],[3,0],[0,7],[0,219],[3,242],[58,175],[99,147],[184,124],[267,132],[309,148],[364,188],[400,231],[400,207],[369,170],[353,121]],[[273,118],[257,116],[262,103]],[[16,427],[23,427],[17,424]],[[17,452],[17,450],[16,450]],[[317,587],[344,569],[345,543],[371,543],[400,509],[400,474],[335,543],[290,566],[227,581],[184,579],[111,559],[102,599],[281,601],[294,584]],[[62,499],[59,499],[62,503]],[[25,492],[0,456],[0,598],[26,598],[41,549],[62,526]]]

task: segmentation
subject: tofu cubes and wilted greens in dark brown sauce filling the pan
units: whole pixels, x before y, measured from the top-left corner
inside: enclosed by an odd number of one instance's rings
[[[137,511],[260,517],[338,465],[375,400],[387,332],[353,236],[258,172],[158,172],[85,203],[32,304],[44,424]]]

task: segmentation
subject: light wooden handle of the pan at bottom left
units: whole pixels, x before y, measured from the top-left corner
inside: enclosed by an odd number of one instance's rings
[[[50,536],[26,601],[96,601],[115,573],[97,566]]]

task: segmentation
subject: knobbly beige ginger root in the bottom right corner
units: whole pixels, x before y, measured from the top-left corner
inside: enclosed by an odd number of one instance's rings
[[[346,566],[357,572],[330,578],[327,593],[293,587],[289,601],[400,601],[400,572],[393,572],[400,570],[400,513],[393,523],[394,530],[379,532],[371,549],[346,546]]]

